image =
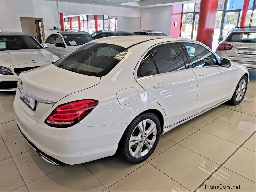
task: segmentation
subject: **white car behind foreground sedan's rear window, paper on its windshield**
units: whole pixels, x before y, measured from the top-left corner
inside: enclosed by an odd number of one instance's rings
[[[47,51],[62,57],[77,47],[94,39],[95,38],[87,32],[61,31],[51,34],[41,44],[44,48],[47,48]]]

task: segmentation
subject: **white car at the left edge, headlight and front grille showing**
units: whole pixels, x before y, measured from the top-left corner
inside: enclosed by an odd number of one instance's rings
[[[0,33],[0,91],[15,91],[21,72],[59,59],[33,37],[20,32]]]

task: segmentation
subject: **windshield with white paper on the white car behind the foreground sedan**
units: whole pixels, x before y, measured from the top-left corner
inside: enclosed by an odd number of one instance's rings
[[[63,34],[64,40],[68,46],[77,46],[88,43],[89,41],[94,40],[92,36],[89,34],[81,33],[81,34]]]

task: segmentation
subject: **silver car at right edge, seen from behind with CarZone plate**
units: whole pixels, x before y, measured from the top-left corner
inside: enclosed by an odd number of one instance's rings
[[[256,69],[256,28],[235,28],[223,39],[216,49],[217,55]]]

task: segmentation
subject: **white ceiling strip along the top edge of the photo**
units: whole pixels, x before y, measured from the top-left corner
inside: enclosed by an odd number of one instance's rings
[[[46,1],[49,1],[49,0],[46,0]],[[130,8],[138,8],[138,9],[200,2],[200,0],[50,0],[50,1],[82,3],[82,4],[91,4],[91,5],[105,5],[105,6],[115,6],[115,7],[130,7]]]

